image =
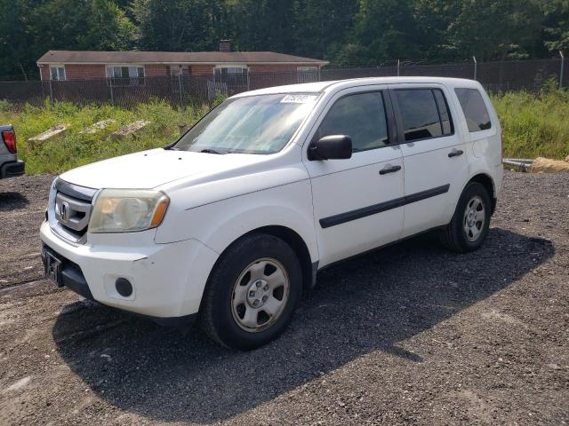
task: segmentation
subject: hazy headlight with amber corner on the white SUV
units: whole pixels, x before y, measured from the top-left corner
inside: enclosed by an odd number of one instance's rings
[[[92,209],[90,233],[134,233],[162,223],[170,199],[151,190],[104,189]]]

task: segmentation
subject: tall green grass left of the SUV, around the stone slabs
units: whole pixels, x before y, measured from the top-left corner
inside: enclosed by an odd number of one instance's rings
[[[167,145],[179,136],[180,123],[191,125],[207,110],[207,106],[180,110],[164,101],[153,100],[132,110],[46,102],[41,107],[27,105],[14,111],[5,102],[0,102],[0,122],[13,124],[18,138],[18,156],[26,162],[28,174],[61,173],[116,155]],[[92,135],[80,133],[94,122],[105,119],[116,122]],[[150,123],[133,138],[113,140],[110,137],[113,131],[136,120]],[[58,123],[68,125],[68,130],[44,143],[28,143],[28,138]]]

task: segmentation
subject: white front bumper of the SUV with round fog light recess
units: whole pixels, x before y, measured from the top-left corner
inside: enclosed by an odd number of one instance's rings
[[[154,230],[136,234],[99,234],[96,244],[79,245],[63,241],[47,222],[40,229],[43,244],[63,259],[63,285],[76,293],[162,323],[198,312],[217,253],[196,240],[156,244]],[[119,295],[118,278],[131,282],[130,296]]]

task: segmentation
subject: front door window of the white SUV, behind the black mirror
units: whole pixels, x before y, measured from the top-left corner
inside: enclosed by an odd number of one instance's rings
[[[389,143],[381,92],[357,93],[336,101],[320,124],[315,138],[346,135],[352,152],[381,148]]]

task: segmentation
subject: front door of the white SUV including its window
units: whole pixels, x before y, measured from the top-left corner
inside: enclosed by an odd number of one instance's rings
[[[323,118],[324,117],[324,118]],[[320,266],[399,238],[404,164],[387,91],[341,91],[313,138],[347,135],[348,160],[308,161]],[[309,144],[305,144],[305,150]]]

